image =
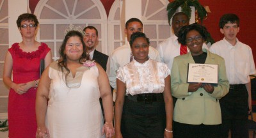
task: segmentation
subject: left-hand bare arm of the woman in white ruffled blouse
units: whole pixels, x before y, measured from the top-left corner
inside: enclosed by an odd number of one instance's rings
[[[126,86],[124,82],[116,79],[117,84],[117,92],[116,92],[116,102],[115,102],[115,131],[116,131],[116,138],[122,137],[121,134],[121,118],[123,112],[123,105],[124,105],[124,96]]]

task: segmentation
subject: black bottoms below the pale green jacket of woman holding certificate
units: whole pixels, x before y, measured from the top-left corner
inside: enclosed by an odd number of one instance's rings
[[[173,121],[174,138],[220,138],[221,125],[190,125]]]

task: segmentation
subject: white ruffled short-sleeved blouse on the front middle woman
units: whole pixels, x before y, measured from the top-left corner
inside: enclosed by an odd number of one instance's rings
[[[152,59],[142,64],[132,60],[117,71],[117,79],[125,83],[126,95],[163,93],[164,79],[168,75],[168,66]]]

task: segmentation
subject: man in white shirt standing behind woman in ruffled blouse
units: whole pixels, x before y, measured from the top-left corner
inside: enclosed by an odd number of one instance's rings
[[[116,72],[121,67],[130,63],[132,60],[131,47],[129,41],[131,34],[134,32],[143,32],[143,23],[140,19],[131,18],[125,23],[124,32],[127,35],[127,43],[121,47],[115,49],[109,56],[107,73],[110,85],[116,89]],[[150,59],[160,61],[159,53],[154,47],[149,47],[148,56]],[[114,90],[115,91],[115,90]],[[113,93],[113,100],[115,101],[115,93]]]

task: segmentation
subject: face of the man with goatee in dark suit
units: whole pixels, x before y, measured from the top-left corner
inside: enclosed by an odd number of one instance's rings
[[[87,28],[84,30],[84,32],[84,43],[86,45],[86,50],[93,50],[99,41],[96,30]]]

